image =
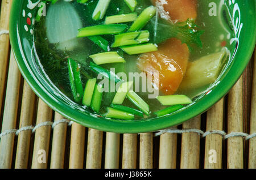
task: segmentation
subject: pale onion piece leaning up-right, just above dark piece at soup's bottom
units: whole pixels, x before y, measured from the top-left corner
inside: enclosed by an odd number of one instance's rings
[[[132,86],[133,82],[123,82],[118,88],[117,93],[115,94],[115,97],[112,101],[112,104],[122,104],[123,100],[125,100],[125,97]]]

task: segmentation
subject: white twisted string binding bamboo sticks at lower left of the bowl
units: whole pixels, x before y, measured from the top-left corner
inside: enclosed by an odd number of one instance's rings
[[[59,121],[55,121],[55,122],[51,122],[51,121],[42,122],[36,126],[24,126],[24,127],[19,128],[18,130],[16,130],[16,129],[6,130],[0,134],[0,139],[3,136],[6,136],[8,134],[15,134],[17,136],[22,131],[32,131],[32,133],[34,133],[37,128],[42,127],[42,126],[51,126],[52,128],[54,128],[55,126],[59,125],[60,123],[67,123],[68,126],[71,126],[73,121],[69,121],[68,119],[60,119]]]

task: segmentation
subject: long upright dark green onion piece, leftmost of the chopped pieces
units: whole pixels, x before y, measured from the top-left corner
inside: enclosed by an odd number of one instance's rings
[[[80,103],[84,94],[82,87],[80,66],[71,58],[68,58],[69,82],[75,102]]]

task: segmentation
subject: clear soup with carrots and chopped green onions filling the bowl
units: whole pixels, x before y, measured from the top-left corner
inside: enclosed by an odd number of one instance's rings
[[[44,1],[36,53],[49,79],[82,109],[125,120],[169,115],[208,91],[234,48],[209,3]]]

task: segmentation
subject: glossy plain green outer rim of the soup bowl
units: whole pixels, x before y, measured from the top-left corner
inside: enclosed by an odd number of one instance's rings
[[[94,128],[100,131],[105,132],[117,132],[117,133],[139,133],[139,132],[152,132],[162,130],[164,128],[180,125],[193,117],[196,117],[199,114],[206,112],[211,106],[216,104],[222,97],[224,97],[233,85],[238,81],[242,72],[245,70],[247,63],[250,61],[250,57],[253,54],[256,40],[256,16],[255,16],[255,2],[254,12],[250,17],[245,18],[243,23],[243,33],[241,35],[249,36],[247,38],[242,38],[240,46],[238,46],[238,51],[236,57],[233,61],[236,62],[236,59],[245,59],[245,61],[240,61],[239,69],[237,70],[234,65],[230,67],[228,72],[229,76],[225,76],[220,84],[218,84],[214,91],[210,93],[210,96],[205,96],[204,100],[200,100],[193,105],[193,108],[186,108],[182,113],[172,114],[171,117],[160,117],[160,118],[151,118],[144,119],[143,121],[120,121],[115,119],[105,119],[100,117],[92,117],[90,115],[75,112],[75,109],[68,108],[68,105],[61,105],[56,101],[53,101],[43,89],[40,89],[39,85],[35,80],[30,76],[26,64],[23,61],[22,52],[20,52],[20,47],[18,44],[18,20],[20,16],[18,15],[19,6],[22,5],[23,1],[13,0],[13,5],[11,7],[10,13],[10,42],[11,48],[13,50],[14,57],[18,64],[19,70],[30,85],[32,90],[37,96],[39,96],[46,104],[57,113],[60,113],[64,117],[71,119],[74,122],[81,124],[82,126]],[[253,5],[253,4],[251,4]],[[248,14],[247,14],[248,15]],[[249,19],[254,19],[249,21]],[[251,30],[254,27],[254,31]],[[245,42],[246,41],[246,42]],[[238,66],[238,65],[237,65]],[[203,107],[203,108],[202,108]],[[82,115],[82,117],[81,117]],[[85,118],[85,119],[84,119]]]

